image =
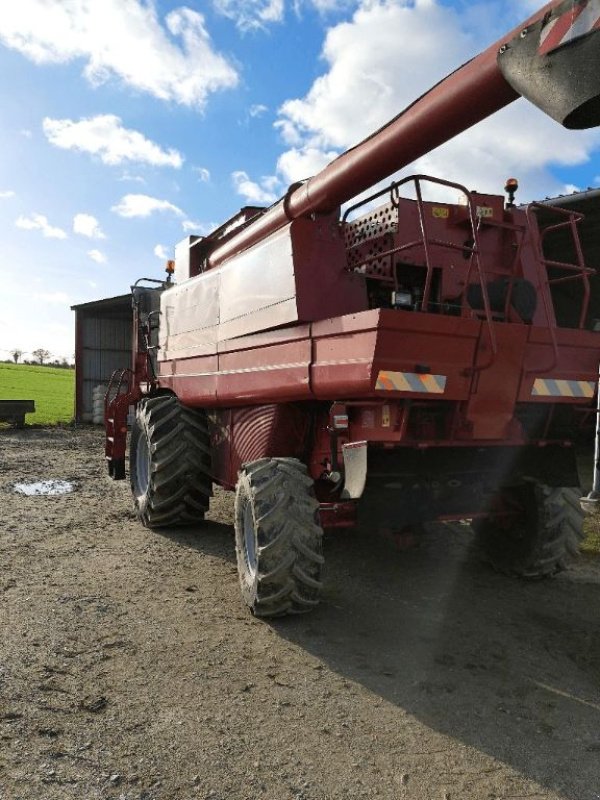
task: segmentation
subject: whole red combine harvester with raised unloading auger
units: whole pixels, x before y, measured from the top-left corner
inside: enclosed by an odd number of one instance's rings
[[[598,75],[600,0],[548,3],[271,208],[182,242],[177,284],[138,282],[106,456],[124,478],[136,404],[142,523],[198,525],[213,483],[235,488],[242,595],[261,616],[318,603],[323,528],[357,512],[397,530],[472,519],[497,569],[561,569],[600,356],[580,215],[544,208],[542,224],[516,182],[505,202],[424,175],[340,206],[519,96],[597,125]],[[424,199],[437,189],[462,202]],[[544,251],[557,227],[572,262]]]

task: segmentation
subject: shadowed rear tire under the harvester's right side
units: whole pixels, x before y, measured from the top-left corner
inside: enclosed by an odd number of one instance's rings
[[[567,569],[583,539],[581,492],[529,481],[505,489],[497,512],[473,528],[486,561],[498,572],[546,578]]]

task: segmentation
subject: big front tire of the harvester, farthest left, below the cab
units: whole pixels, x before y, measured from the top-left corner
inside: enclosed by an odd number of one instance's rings
[[[135,510],[146,527],[203,520],[212,494],[205,413],[186,408],[173,395],[141,400],[129,467]]]

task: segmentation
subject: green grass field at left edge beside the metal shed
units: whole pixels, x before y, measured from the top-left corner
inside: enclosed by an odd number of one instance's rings
[[[73,419],[75,370],[29,364],[0,364],[0,400],[35,400],[27,425],[56,425]]]

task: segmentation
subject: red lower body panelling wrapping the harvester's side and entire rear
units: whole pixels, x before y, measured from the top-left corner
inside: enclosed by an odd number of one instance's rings
[[[493,433],[477,427],[470,438],[496,439],[506,435],[517,401],[544,401],[531,396],[535,377],[595,380],[595,333],[557,329],[559,359],[552,367],[547,330],[503,323],[495,332],[498,354],[486,366],[491,354],[483,322],[377,309],[244,337],[216,356],[161,362],[159,384],[187,405],[208,408],[373,399],[382,397],[376,389],[380,371],[414,373],[421,368],[446,377],[442,395],[390,391],[385,396],[470,400],[467,416],[477,426],[484,417],[498,416]]]

